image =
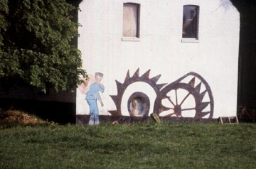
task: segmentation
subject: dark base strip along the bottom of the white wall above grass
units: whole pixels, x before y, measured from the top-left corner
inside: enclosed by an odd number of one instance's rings
[[[89,115],[76,115],[75,124],[87,125],[89,123]],[[176,122],[202,122],[213,123],[218,122],[219,119],[194,119],[183,117],[159,117],[161,121],[176,121]],[[151,116],[100,116],[101,123],[113,123],[117,121],[118,124],[132,124],[146,121],[154,121]]]

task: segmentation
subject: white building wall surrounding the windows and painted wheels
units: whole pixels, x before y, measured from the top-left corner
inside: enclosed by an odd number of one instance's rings
[[[124,2],[141,5],[139,41],[122,41]],[[200,6],[198,43],[182,43],[183,5]],[[88,74],[102,72],[105,106],[100,114],[116,110],[110,95],[117,94],[115,80],[123,83],[139,68],[139,75],[161,75],[157,84],[171,83],[188,72],[208,82],[214,98],[213,118],[233,116],[237,108],[240,16],[228,0],[83,0],[78,16],[83,67]],[[196,82],[197,83],[197,82]],[[122,98],[122,115],[133,92],[149,96],[150,113],[156,94],[149,84],[131,84]],[[77,92],[77,114],[89,114],[85,95]],[[207,117],[207,116],[206,116]]]

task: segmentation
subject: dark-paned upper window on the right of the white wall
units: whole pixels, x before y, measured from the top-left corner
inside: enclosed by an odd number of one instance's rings
[[[183,6],[182,38],[198,39],[199,6]]]

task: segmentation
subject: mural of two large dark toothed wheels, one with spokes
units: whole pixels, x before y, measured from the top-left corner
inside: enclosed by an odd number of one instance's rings
[[[213,118],[213,94],[206,80],[196,72],[189,72],[175,82],[157,84],[161,75],[149,78],[149,72],[139,76],[139,69],[132,75],[129,70],[123,83],[117,84],[117,95],[110,97],[114,101],[116,110],[110,110],[112,116],[122,116],[122,97],[130,84],[144,82],[149,84],[156,93],[154,113],[159,116],[190,116],[195,119]],[[128,99],[127,109],[130,116],[149,116],[151,103],[143,92],[134,92]]]

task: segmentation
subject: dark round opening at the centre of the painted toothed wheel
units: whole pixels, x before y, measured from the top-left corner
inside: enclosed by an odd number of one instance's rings
[[[142,92],[133,93],[128,99],[130,116],[147,116],[149,114],[149,97]]]

